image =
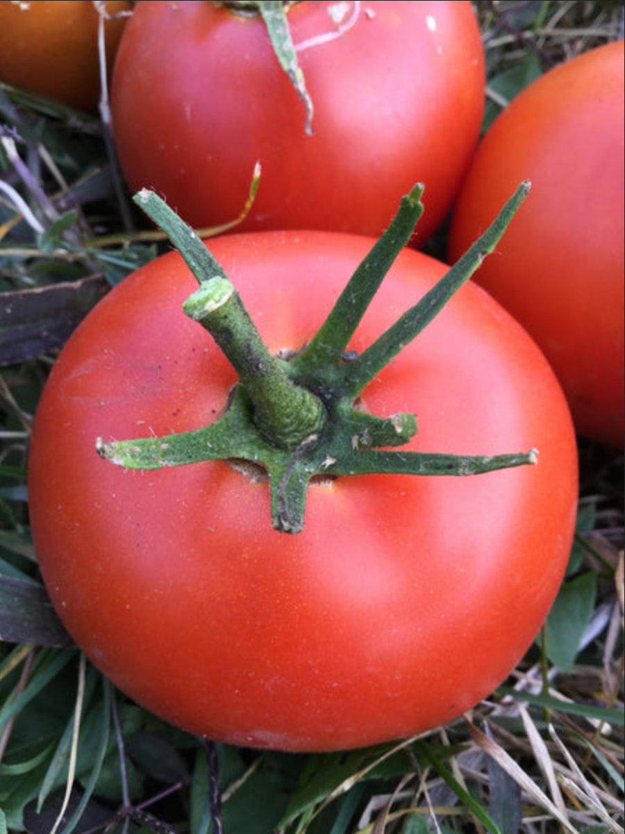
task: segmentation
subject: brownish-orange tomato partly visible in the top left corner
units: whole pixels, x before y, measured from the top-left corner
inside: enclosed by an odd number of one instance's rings
[[[133,3],[107,0],[107,14]],[[117,51],[125,18],[107,20],[107,65]],[[0,79],[84,110],[97,107],[100,64],[98,13],[92,0],[0,3]]]

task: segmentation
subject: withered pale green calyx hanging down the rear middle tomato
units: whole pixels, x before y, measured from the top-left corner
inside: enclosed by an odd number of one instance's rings
[[[278,63],[293,84],[295,92],[302,99],[306,108],[306,133],[313,134],[313,99],[308,94],[304,74],[298,63],[298,53],[291,30],[288,26],[287,12],[297,6],[301,0],[221,0],[217,6],[225,6],[233,14],[244,18],[263,18],[267,28],[273,52]]]

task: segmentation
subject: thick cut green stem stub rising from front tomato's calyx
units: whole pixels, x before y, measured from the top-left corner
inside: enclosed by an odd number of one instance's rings
[[[294,449],[311,436],[318,437],[326,422],[321,400],[289,379],[228,279],[213,278],[201,284],[183,310],[208,329],[237,371],[254,405],[254,423],[265,440],[281,449]]]

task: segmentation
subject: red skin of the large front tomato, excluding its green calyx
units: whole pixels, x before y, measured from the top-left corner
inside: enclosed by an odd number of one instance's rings
[[[317,331],[373,241],[233,235],[211,250],[273,351]],[[404,250],[358,328],[362,350],[446,268]],[[298,535],[271,527],[268,485],[223,461],[127,471],[96,438],[197,429],[235,383],[182,312],[178,254],[98,304],[37,410],[29,493],[47,589],[122,691],[243,746],[323,751],[408,736],[488,695],[557,593],[577,499],[575,437],[552,370],[488,294],[465,287],[363,393],[418,415],[413,450],[538,463],[468,478],[367,475],[308,494]],[[488,647],[488,651],[486,648]]]

